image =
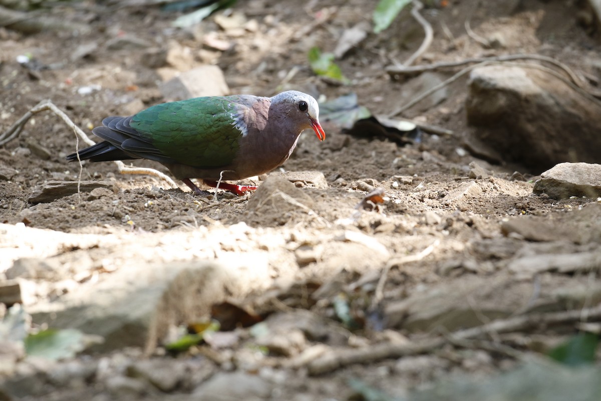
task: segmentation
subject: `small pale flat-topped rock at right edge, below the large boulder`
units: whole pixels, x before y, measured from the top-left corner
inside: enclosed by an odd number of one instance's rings
[[[546,194],[553,199],[601,197],[601,164],[558,164],[541,174],[532,192]]]

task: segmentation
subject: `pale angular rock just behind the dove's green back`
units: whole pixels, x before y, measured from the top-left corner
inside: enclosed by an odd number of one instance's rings
[[[202,66],[181,73],[160,85],[166,100],[183,100],[201,96],[224,96],[230,93],[224,73],[218,66]]]

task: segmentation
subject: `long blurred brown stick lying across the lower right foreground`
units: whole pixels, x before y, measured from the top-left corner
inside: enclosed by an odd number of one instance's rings
[[[582,315],[590,320],[601,319],[601,305],[587,310],[569,310],[562,312],[532,313],[509,319],[495,320],[486,325],[456,331],[449,335],[453,340],[469,340],[489,335],[490,332],[507,333],[525,331],[538,326],[565,325],[578,323]],[[343,349],[328,352],[307,364],[311,375],[332,372],[341,367],[356,363],[368,364],[388,358],[400,358],[407,355],[418,355],[437,349],[449,340],[445,337],[430,337],[412,343],[381,343],[359,349]]]

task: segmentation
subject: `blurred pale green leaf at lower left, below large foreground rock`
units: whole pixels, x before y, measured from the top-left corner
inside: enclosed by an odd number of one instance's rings
[[[91,344],[99,343],[99,336],[87,335],[76,329],[48,329],[25,338],[25,351],[31,357],[58,361],[73,358]]]

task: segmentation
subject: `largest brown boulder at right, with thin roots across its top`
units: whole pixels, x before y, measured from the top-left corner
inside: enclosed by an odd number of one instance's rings
[[[549,73],[519,67],[472,70],[466,100],[473,135],[501,155],[543,171],[601,161],[601,105]]]

